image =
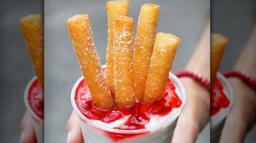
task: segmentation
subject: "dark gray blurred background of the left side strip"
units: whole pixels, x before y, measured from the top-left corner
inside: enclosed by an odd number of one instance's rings
[[[20,19],[43,14],[42,0],[0,1],[0,142],[19,142],[19,124],[26,110],[23,96],[35,76]]]

